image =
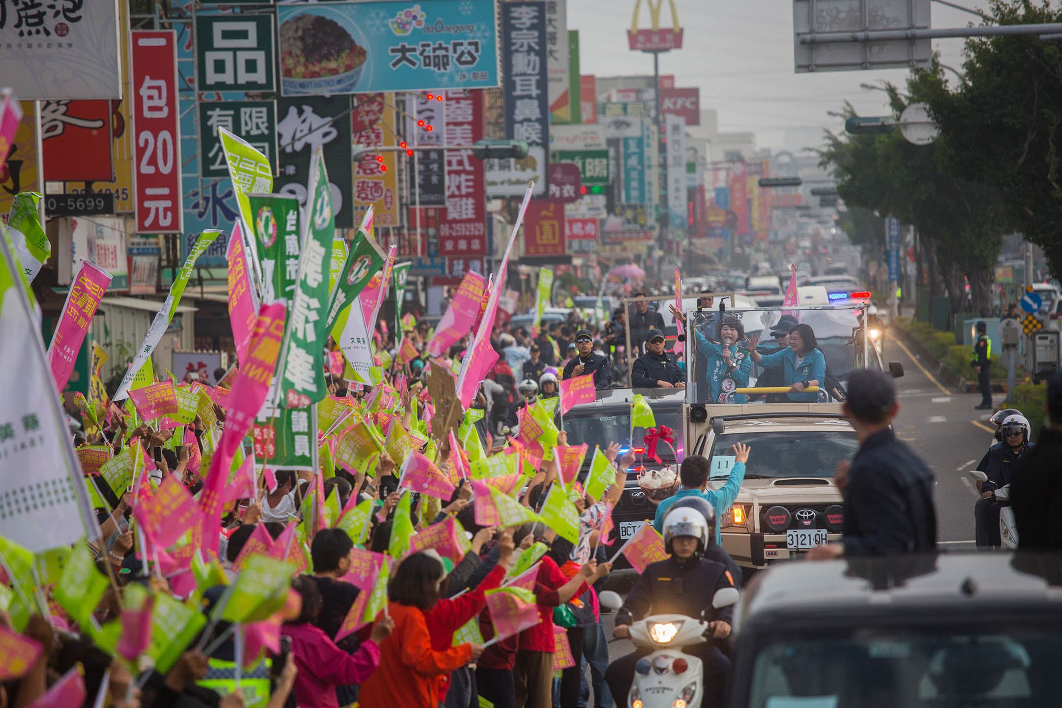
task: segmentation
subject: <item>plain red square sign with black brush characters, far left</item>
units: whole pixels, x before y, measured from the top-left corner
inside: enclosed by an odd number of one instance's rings
[[[40,151],[46,180],[113,180],[113,143],[110,101],[40,102]]]

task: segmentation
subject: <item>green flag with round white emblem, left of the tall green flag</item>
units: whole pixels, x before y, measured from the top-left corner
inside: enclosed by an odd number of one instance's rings
[[[255,248],[262,272],[262,303],[286,300],[295,295],[298,277],[298,198],[288,194],[255,194],[246,198]]]

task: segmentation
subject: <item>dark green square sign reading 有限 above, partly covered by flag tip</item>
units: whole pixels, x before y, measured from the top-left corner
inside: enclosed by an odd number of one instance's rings
[[[227,177],[228,165],[221,148],[218,127],[243,138],[270,161],[277,163],[276,104],[273,101],[202,102],[200,111],[200,160],[204,177]]]

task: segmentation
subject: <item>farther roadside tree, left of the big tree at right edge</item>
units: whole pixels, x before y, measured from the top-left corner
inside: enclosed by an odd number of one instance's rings
[[[894,116],[898,118],[940,81],[935,65],[911,72],[907,94],[887,84]],[[854,115],[851,105],[845,105],[845,114]],[[992,269],[1007,226],[995,190],[944,173],[936,144],[911,144],[898,129],[854,136],[827,133],[826,138],[822,165],[833,167],[845,204],[913,225],[925,245],[925,264],[939,278],[930,277],[930,283],[945,286],[953,313],[964,309],[969,281],[974,310],[989,314]]]

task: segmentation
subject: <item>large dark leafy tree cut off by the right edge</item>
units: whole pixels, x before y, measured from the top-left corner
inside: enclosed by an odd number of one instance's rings
[[[1062,10],[1029,0],[993,0],[999,24],[1062,21]],[[1062,275],[1062,46],[1038,35],[966,41],[964,81],[950,91],[927,76],[920,99],[940,126],[942,170],[991,188],[1006,217],[1041,246]]]

